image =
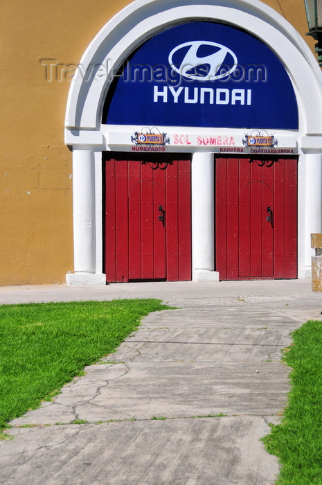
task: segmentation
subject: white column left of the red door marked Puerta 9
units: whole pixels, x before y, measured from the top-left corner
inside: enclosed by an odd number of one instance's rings
[[[96,274],[95,166],[92,150],[73,150],[74,274],[68,285],[105,284]]]

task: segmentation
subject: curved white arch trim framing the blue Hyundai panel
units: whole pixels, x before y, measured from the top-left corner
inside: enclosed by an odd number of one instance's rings
[[[257,0],[196,0],[193,5],[186,0],[138,0],[111,19],[84,53],[69,92],[66,143],[75,143],[75,138],[78,143],[87,143],[82,133],[69,138],[69,130],[100,130],[102,101],[111,77],[134,48],[166,26],[197,19],[224,21],[265,40],[292,79],[301,133],[322,133],[321,71],[301,36],[275,10]],[[92,69],[97,70],[96,76]]]

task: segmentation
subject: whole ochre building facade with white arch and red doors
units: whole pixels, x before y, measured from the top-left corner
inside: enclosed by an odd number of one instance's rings
[[[302,2],[119,9],[6,7],[1,284],[308,276],[322,78]]]

